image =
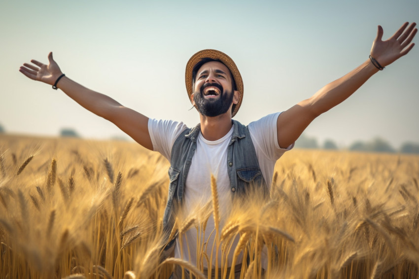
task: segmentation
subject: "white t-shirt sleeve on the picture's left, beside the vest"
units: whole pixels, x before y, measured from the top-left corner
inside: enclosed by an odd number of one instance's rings
[[[148,133],[153,143],[153,150],[160,152],[170,161],[175,139],[185,129],[187,129],[187,126],[183,122],[150,118],[148,120]]]

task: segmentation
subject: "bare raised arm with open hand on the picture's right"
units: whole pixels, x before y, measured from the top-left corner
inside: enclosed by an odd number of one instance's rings
[[[377,37],[371,48],[371,57],[379,65],[385,67],[400,57],[406,55],[415,45],[411,43],[418,32],[416,23],[405,23],[388,40],[383,41],[383,28],[378,27]],[[345,101],[364,82],[366,82],[379,69],[370,59],[366,60],[356,69],[343,77],[327,84],[311,98],[304,100],[288,110],[282,112],[277,121],[278,143],[286,148],[297,140],[309,124],[335,105]]]

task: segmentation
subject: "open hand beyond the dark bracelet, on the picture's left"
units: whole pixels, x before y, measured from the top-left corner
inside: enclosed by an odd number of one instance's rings
[[[52,52],[48,54],[49,64],[45,65],[36,60],[31,60],[36,66],[24,63],[19,71],[33,80],[45,82],[49,85],[54,85],[57,78],[63,73],[58,67],[57,62],[52,58]]]

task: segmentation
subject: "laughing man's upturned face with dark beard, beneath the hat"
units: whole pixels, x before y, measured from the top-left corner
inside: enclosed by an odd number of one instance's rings
[[[231,110],[232,77],[228,68],[216,61],[205,63],[198,70],[193,101],[199,113],[214,117]]]

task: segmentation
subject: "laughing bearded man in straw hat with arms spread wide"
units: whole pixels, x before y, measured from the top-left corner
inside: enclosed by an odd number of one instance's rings
[[[211,174],[223,198],[221,206],[228,206],[231,196],[244,192],[251,183],[270,186],[275,162],[292,148],[314,118],[346,100],[373,74],[413,48],[411,42],[418,31],[415,26],[416,23],[410,26],[405,23],[385,41],[379,26],[370,57],[359,67],[327,84],[311,98],[246,127],[232,120],[244,97],[242,77],[233,60],[216,50],[196,53],[186,66],[187,92],[200,112],[200,124],[193,129],[182,123],[148,119],[77,84],[63,75],[52,53],[48,55],[49,65],[32,60],[35,66],[25,63],[20,71],[31,79],[60,88],[78,104],[113,122],[142,146],[162,153],[171,161],[171,184],[164,216],[164,225],[170,230],[175,202],[188,208],[197,197],[210,196]],[[208,226],[211,231],[213,224]],[[194,243],[189,235],[188,240]],[[181,249],[177,247],[176,257],[181,257]],[[196,260],[187,253],[183,258]]]

